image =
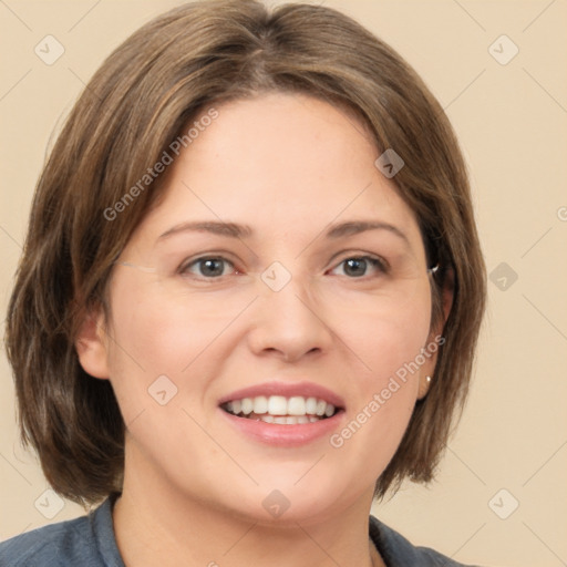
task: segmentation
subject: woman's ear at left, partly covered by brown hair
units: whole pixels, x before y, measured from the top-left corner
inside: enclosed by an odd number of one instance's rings
[[[102,306],[83,315],[75,339],[75,350],[83,370],[94,377],[107,379],[107,336]]]

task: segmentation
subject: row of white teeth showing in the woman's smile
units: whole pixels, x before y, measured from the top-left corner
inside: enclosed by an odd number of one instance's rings
[[[331,403],[317,398],[303,398],[302,395],[258,395],[256,398],[243,398],[231,400],[224,409],[234,415],[245,416],[254,413],[254,417],[266,423],[297,424],[312,423],[320,419],[334,415],[336,408]]]

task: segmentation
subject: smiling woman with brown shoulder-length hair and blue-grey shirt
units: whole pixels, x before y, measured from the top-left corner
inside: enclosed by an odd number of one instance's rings
[[[423,82],[337,11],[205,1],[101,66],[39,181],[7,346],[54,489],[7,565],[457,565],[370,516],[432,480],[485,271]]]

